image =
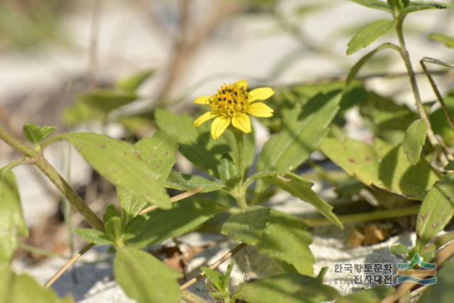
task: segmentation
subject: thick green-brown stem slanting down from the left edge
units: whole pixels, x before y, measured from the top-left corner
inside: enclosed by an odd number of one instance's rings
[[[69,184],[63,179],[63,177],[55,170],[55,168],[45,160],[43,155],[33,148],[28,147],[28,145],[18,141],[18,139],[11,136],[3,127],[0,126],[0,139],[3,140],[6,144],[10,145],[16,151],[23,153],[26,157],[31,159],[31,163],[38,167],[38,169],[43,172],[43,174],[48,177],[50,182],[52,182],[55,187],[70,201],[70,203],[82,214],[82,216],[87,219],[89,224],[99,231],[104,231],[104,224],[101,219],[96,216],[94,211],[85,204],[79,195],[74,192],[74,189],[70,187]]]

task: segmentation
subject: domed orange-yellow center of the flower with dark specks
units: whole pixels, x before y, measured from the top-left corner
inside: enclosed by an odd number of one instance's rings
[[[232,118],[246,111],[249,104],[248,92],[238,84],[223,84],[217,94],[209,99],[211,110],[216,115]]]

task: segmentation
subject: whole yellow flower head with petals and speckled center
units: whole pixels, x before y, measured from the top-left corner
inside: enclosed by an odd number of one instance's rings
[[[194,127],[201,126],[209,119],[214,119],[211,123],[211,136],[216,140],[226,128],[232,123],[244,133],[250,133],[249,115],[256,117],[270,117],[273,110],[262,102],[270,98],[275,92],[270,87],[260,87],[248,90],[248,82],[240,80],[234,84],[223,84],[214,96],[201,96],[194,100],[194,104],[206,104],[211,107],[211,111],[199,116],[194,121]]]

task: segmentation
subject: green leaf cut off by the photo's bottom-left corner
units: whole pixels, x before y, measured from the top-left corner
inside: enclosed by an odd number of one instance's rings
[[[17,275],[8,266],[0,266],[0,302],[72,303],[74,300],[70,297],[59,298],[52,289],[42,287],[30,275]]]

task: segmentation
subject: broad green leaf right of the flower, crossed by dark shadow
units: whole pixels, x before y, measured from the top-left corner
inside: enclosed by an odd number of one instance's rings
[[[316,94],[304,105],[283,114],[283,129],[270,138],[260,153],[258,172],[291,171],[316,150],[339,110],[339,90]]]

